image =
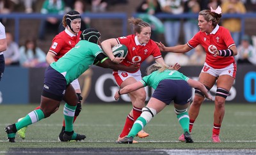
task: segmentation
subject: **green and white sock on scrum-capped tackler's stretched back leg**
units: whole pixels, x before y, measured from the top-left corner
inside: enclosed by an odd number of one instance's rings
[[[44,112],[41,109],[30,112],[24,119],[15,123],[17,130],[44,119]]]

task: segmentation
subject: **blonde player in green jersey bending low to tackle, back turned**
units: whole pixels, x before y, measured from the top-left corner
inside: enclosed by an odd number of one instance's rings
[[[183,129],[185,141],[187,143],[193,143],[189,134],[189,115],[187,112],[191,101],[191,87],[202,91],[205,98],[209,100],[212,100],[211,94],[207,92],[207,89],[202,83],[186,77],[177,70],[172,70],[169,66],[163,66],[159,63],[152,64],[147,68],[147,74],[140,81],[126,85],[115,93],[115,100],[118,100],[121,94],[136,91],[147,85],[155,89],[147,106],[142,108],[142,114],[134,121],[127,137],[117,141],[117,143],[132,144],[132,140],[137,133],[147,125],[154,115],[161,112],[166,105],[170,105],[171,101],[173,101],[175,113]]]

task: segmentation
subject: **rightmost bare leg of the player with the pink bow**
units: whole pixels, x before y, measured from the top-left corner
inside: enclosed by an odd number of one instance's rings
[[[214,108],[214,124],[212,128],[212,141],[221,142],[220,128],[225,115],[225,100],[229,94],[229,91],[234,84],[234,78],[230,75],[221,75],[217,81],[217,91],[215,96],[215,108]]]

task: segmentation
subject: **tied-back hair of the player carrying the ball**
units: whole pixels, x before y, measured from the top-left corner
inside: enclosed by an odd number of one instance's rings
[[[150,27],[150,24],[144,22],[141,18],[131,17],[128,19],[128,23],[132,25],[134,33],[141,33],[143,27]]]

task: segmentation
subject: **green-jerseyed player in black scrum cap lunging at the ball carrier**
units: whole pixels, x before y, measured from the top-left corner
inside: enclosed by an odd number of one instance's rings
[[[122,61],[122,58],[120,58]],[[63,141],[84,140],[85,135],[79,135],[73,130],[73,120],[77,105],[76,91],[70,84],[93,63],[97,66],[111,68],[113,70],[135,71],[138,66],[124,66],[113,63],[100,48],[100,33],[96,29],[85,29],[81,33],[81,41],[68,51],[58,61],[52,63],[45,70],[44,87],[41,96],[40,109],[33,110],[24,119],[5,128],[9,142],[15,142],[17,130],[49,117],[60,107],[64,100],[63,114],[65,119],[65,131]]]

